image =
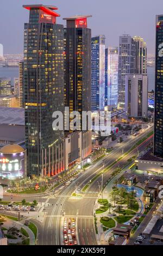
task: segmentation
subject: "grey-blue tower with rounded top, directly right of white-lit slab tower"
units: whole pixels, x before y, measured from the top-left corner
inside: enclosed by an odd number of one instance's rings
[[[118,60],[118,107],[125,105],[126,75],[135,74],[135,42],[130,35],[120,36]]]

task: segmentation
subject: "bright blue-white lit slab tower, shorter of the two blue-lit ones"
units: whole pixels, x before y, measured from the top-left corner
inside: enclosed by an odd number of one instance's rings
[[[108,106],[118,101],[118,47],[105,49],[105,98]]]

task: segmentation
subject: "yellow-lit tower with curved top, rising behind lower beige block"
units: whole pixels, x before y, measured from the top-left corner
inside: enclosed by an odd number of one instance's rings
[[[135,42],[135,73],[147,74],[147,44],[141,36],[134,36]]]

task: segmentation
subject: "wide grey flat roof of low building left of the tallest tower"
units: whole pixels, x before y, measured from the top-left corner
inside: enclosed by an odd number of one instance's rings
[[[25,125],[24,108],[0,107],[0,124]]]

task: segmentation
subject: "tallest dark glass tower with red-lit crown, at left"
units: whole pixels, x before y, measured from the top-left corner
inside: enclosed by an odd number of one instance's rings
[[[24,25],[24,107],[28,175],[64,170],[63,133],[52,128],[52,114],[64,108],[64,28],[57,7],[23,5],[30,11]]]

